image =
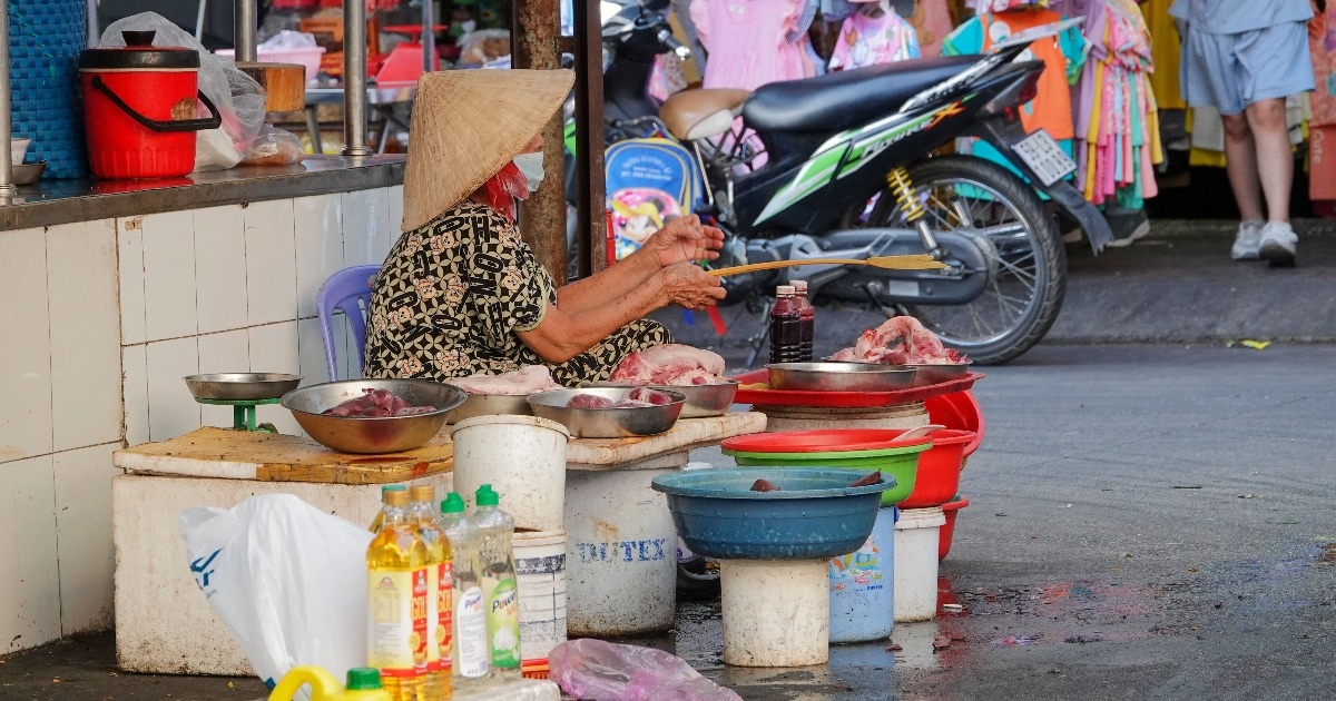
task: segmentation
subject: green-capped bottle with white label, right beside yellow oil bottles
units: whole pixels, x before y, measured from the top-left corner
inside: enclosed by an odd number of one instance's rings
[[[454,550],[454,693],[465,694],[488,685],[488,620],[478,582],[478,538],[473,521],[464,514],[464,498],[452,491],[441,502],[441,529]]]

